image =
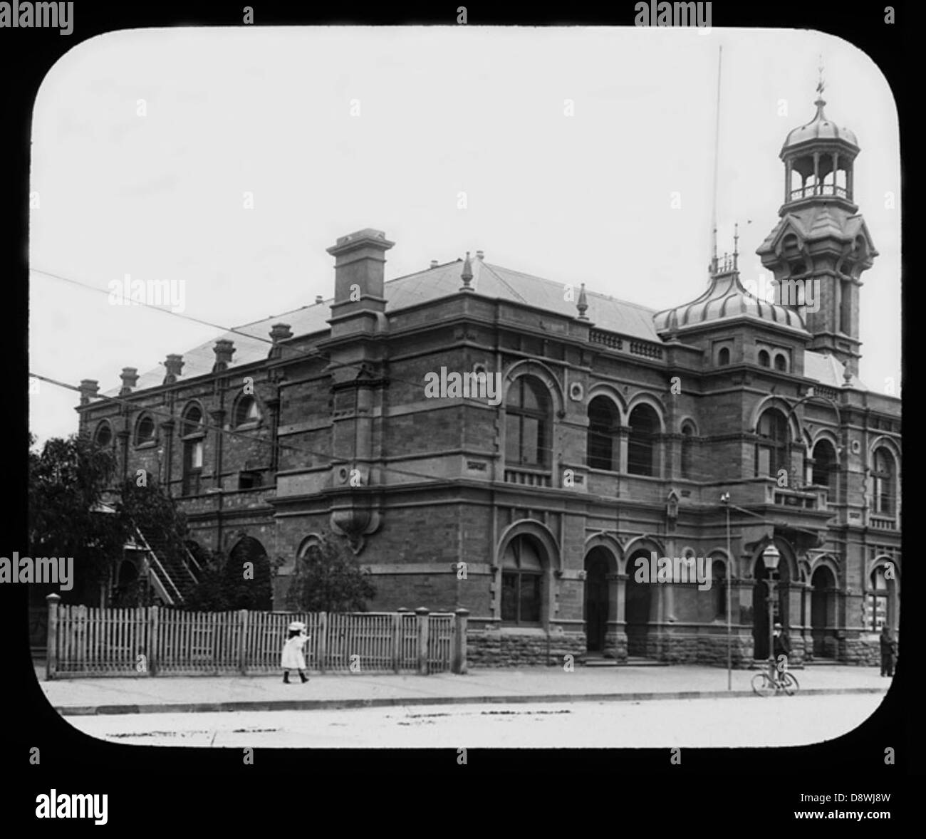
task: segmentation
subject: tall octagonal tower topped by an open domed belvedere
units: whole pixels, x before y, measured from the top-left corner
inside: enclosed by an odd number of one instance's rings
[[[775,279],[780,301],[795,307],[812,339],[807,349],[831,354],[858,375],[859,290],[878,251],[854,203],[856,135],[823,111],[785,138],[781,220],[756,253]]]

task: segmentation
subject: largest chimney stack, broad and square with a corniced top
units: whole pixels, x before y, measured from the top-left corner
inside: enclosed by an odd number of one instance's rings
[[[334,257],[332,315],[359,310],[385,311],[385,253],[395,243],[382,231],[366,228],[341,236],[328,253]],[[341,311],[337,311],[341,308]]]

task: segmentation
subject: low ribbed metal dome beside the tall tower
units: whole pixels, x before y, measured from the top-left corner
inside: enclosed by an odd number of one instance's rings
[[[793,308],[769,303],[761,297],[749,294],[740,283],[736,271],[716,274],[704,294],[691,303],[657,312],[653,316],[653,322],[656,331],[663,334],[712,320],[741,316],[804,330],[804,322]]]

